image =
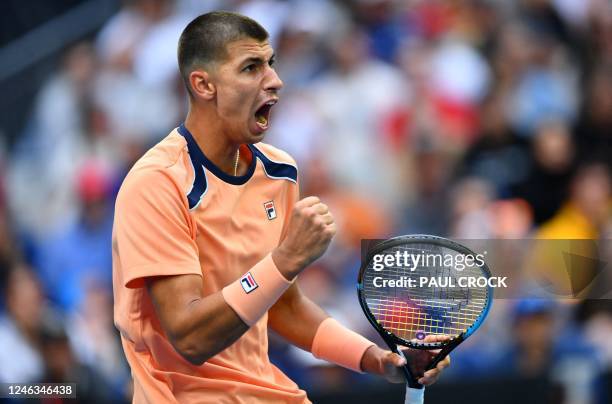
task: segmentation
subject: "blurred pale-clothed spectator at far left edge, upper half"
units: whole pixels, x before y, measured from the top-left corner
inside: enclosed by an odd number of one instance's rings
[[[7,194],[21,230],[44,234],[75,211],[71,184],[87,149],[96,55],[87,43],[66,53],[61,70],[41,89],[32,121],[12,155]],[[36,197],[32,197],[33,190]]]

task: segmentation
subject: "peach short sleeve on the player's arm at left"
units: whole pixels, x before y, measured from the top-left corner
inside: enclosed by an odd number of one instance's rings
[[[151,276],[202,275],[186,197],[161,170],[133,172],[117,196],[113,246],[124,286]]]

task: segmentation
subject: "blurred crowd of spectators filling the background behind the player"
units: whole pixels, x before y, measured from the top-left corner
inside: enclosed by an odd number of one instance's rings
[[[184,119],[176,43],[212,9],[270,33],[285,86],[265,141],[297,160],[301,194],[339,226],[300,285],[343,323],[375,338],[355,293],[361,239],[611,238],[607,0],[125,1],[66,50],[1,159],[0,381],[129,394],[112,320],[114,197]],[[566,403],[605,402],[607,300],[494,304],[441,383],[545,375]],[[270,353],[307,390],[384,383],[275,337]]]

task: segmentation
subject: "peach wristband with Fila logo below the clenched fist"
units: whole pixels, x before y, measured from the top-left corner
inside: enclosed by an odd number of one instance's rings
[[[268,254],[246,274],[224,287],[221,294],[238,317],[252,326],[292,283],[279,272]]]

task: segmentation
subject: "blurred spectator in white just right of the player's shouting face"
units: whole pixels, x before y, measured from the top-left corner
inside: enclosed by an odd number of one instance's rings
[[[332,68],[313,88],[317,114],[309,117],[325,124],[321,157],[335,183],[393,207],[401,199],[394,186],[398,169],[383,158],[389,151],[379,131],[383,119],[405,102],[405,82],[395,67],[368,58],[367,37],[358,27],[330,42]]]

